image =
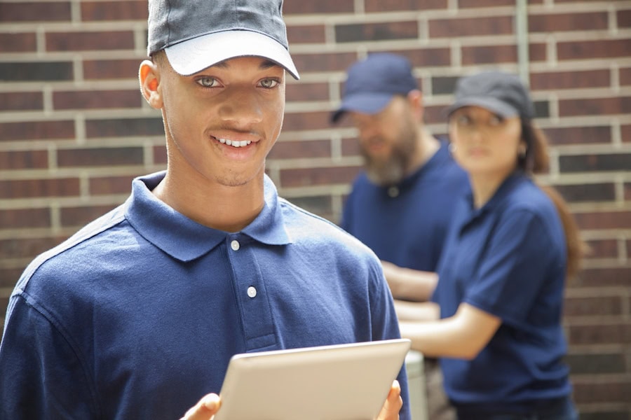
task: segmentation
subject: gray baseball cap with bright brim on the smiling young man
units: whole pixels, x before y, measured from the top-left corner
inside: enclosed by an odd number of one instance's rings
[[[149,0],[147,53],[165,50],[183,76],[235,57],[264,57],[300,76],[283,0]]]

